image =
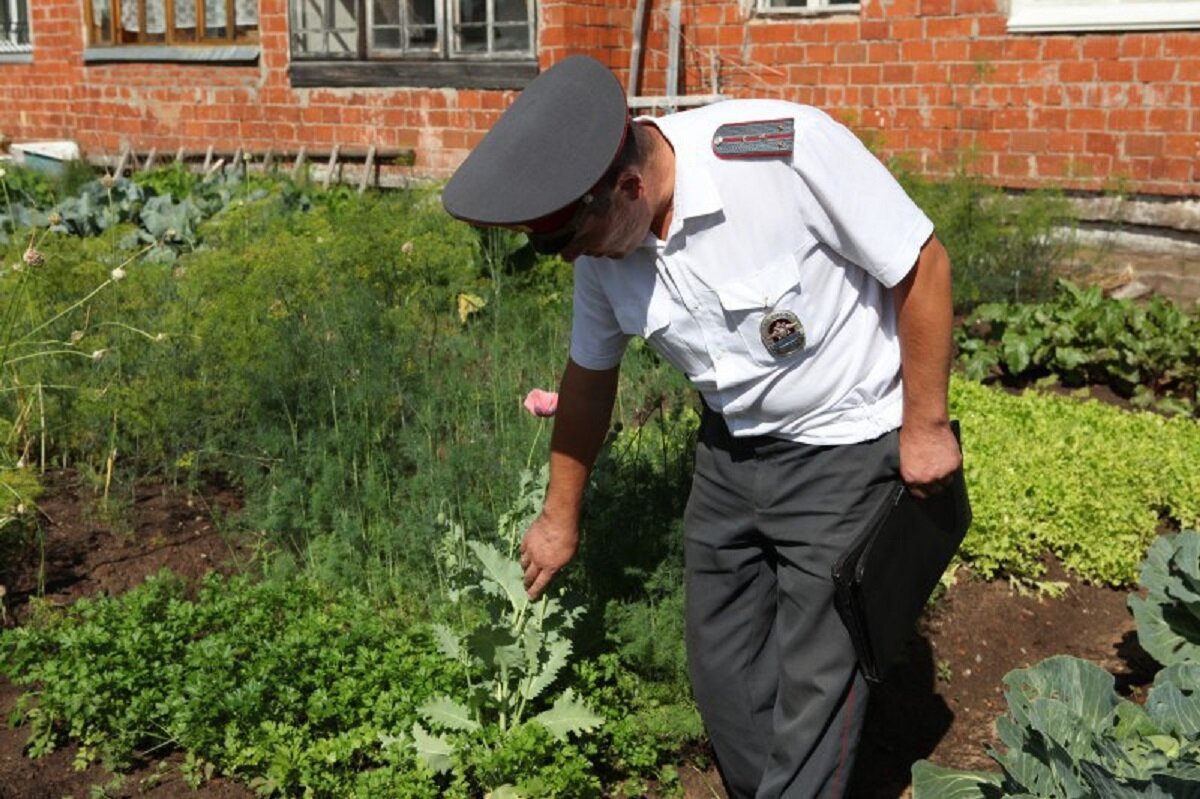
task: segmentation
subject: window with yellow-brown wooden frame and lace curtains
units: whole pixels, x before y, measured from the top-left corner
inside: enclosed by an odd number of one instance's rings
[[[92,47],[258,41],[258,0],[86,0],[84,12]]]

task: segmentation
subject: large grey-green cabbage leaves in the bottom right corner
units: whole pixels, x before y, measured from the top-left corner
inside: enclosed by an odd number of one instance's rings
[[[1144,600],[1130,600],[1142,645],[1166,668],[1146,702],[1120,697],[1114,678],[1060,655],[1004,677],[1008,713],[996,722],[1001,773],[913,765],[914,799],[994,797],[1200,798],[1200,534],[1166,536],[1142,564]]]

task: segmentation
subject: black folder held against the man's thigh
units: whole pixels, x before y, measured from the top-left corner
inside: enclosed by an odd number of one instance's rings
[[[868,680],[887,677],[970,525],[962,469],[924,499],[899,485],[834,564],[838,613]]]

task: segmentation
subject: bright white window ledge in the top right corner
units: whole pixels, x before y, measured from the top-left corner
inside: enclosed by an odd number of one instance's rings
[[[1200,0],[1012,0],[1008,30],[1200,28]]]

